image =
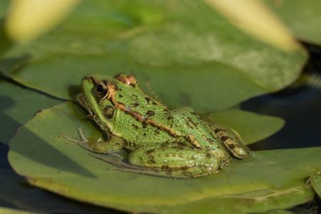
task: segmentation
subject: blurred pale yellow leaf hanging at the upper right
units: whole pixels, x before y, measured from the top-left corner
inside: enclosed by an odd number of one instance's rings
[[[263,3],[256,0],[203,0],[230,19],[230,22],[257,39],[284,51],[300,46],[290,31]]]

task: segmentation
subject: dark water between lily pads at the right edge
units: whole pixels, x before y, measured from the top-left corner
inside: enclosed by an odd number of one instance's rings
[[[275,135],[253,143],[259,150],[321,146],[321,49],[309,46],[311,59],[302,76],[284,90],[250,99],[241,104],[247,111],[278,116],[285,126]]]

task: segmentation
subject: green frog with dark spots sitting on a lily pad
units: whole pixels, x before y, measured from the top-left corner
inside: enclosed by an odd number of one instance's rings
[[[192,108],[164,106],[144,93],[131,74],[88,75],[81,87],[78,101],[108,141],[88,141],[81,129],[81,141],[62,137],[95,153],[117,156],[116,152],[126,148],[129,163],[93,155],[118,166],[113,170],[195,178],[218,172],[230,163],[230,155],[238,159],[250,156],[238,133],[203,121]]]

